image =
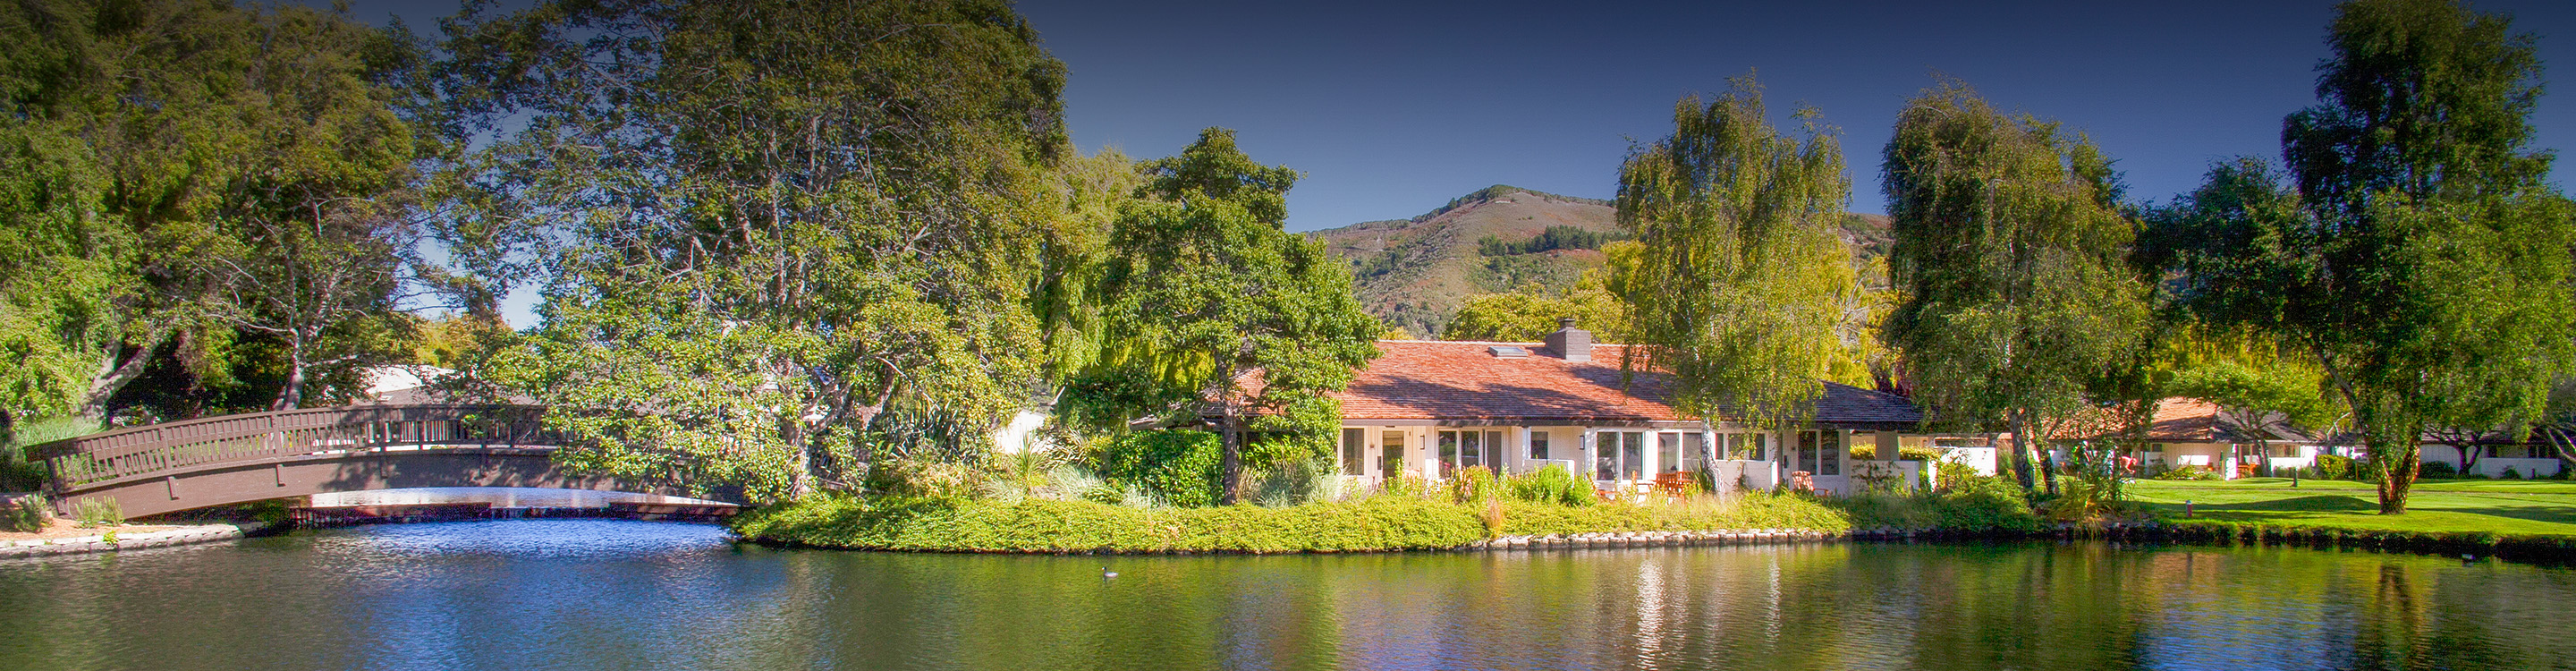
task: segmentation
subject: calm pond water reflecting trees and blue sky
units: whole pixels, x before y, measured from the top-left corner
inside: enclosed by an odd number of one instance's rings
[[[2576,668],[2571,617],[2563,568],[2099,545],[999,557],[567,519],[0,563],[13,671]]]

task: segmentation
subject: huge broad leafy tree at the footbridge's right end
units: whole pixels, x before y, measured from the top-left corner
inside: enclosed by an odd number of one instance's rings
[[[440,237],[546,284],[487,374],[554,405],[567,465],[793,498],[858,480],[894,405],[987,431],[1036,395],[1064,65],[1007,3],[477,3],[448,34],[492,142]]]

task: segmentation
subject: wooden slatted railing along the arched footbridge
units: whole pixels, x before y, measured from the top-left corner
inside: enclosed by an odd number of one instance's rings
[[[551,446],[541,405],[343,405],[173,421],[28,446],[57,490],[309,454]]]

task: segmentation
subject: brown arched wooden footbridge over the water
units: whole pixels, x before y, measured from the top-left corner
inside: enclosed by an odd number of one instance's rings
[[[126,516],[389,488],[567,488],[685,496],[574,475],[538,405],[348,405],[175,421],[28,446],[54,508],[113,498]]]

